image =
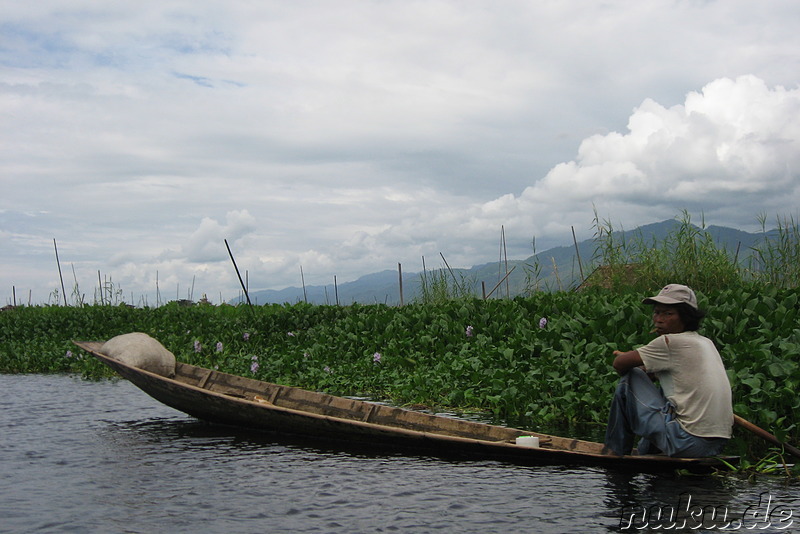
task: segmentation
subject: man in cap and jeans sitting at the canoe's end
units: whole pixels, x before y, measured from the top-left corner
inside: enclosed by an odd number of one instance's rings
[[[658,337],[614,351],[622,375],[611,403],[606,450],[679,457],[716,456],[731,437],[731,386],[714,343],[697,333],[705,312],[690,288],[670,284],[643,301],[653,305]],[[650,376],[658,379],[657,387]]]

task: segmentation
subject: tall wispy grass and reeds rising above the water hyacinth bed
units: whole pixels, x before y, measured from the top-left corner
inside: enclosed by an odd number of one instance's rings
[[[653,291],[668,283],[680,282],[696,291],[716,291],[738,285],[751,288],[800,287],[800,229],[791,217],[778,217],[777,227],[766,230],[766,219],[759,217],[762,239],[752,248],[726,247],[715,241],[701,216],[695,224],[683,210],[677,225],[666,236],[646,236],[642,230],[626,232],[603,220],[595,211],[592,228],[594,252],[589,262],[593,273],[584,286],[600,286],[613,292]],[[521,295],[540,291],[563,291],[558,266],[553,265],[555,281],[542,276],[543,265],[536,254],[535,240],[531,260],[522,264],[524,283]],[[460,276],[460,278],[459,278]],[[449,269],[423,271],[418,302],[442,303],[453,299],[480,296],[476,286],[463,274]]]

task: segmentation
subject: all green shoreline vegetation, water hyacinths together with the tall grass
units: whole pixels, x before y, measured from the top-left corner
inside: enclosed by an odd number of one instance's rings
[[[443,271],[427,273],[423,295],[404,306],[18,306],[0,313],[0,372],[108,377],[71,340],[140,331],[180,361],[232,374],[599,434],[617,380],[612,351],[652,338],[641,300],[678,282],[708,309],[700,331],[723,357],[734,411],[800,443],[797,223],[779,218],[757,248],[730,251],[686,212],[679,221],[663,241],[621,241],[595,217],[593,274],[570,291],[538,290],[540,267],[528,265],[530,291],[515,298],[479,298]],[[739,430],[726,452],[768,451]]]

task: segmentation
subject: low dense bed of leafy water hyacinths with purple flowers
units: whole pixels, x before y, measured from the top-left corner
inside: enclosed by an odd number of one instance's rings
[[[799,293],[737,287],[700,294],[711,312],[703,333],[723,355],[736,412],[794,442]],[[402,308],[273,305],[253,313],[232,306],[17,308],[0,314],[0,371],[102,376],[70,340],[142,331],[182,361],[272,382],[485,409],[549,428],[602,425],[616,381],[612,350],[652,335],[641,305],[649,294],[591,289]]]

